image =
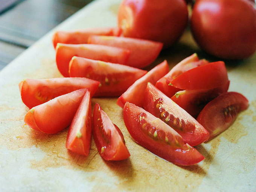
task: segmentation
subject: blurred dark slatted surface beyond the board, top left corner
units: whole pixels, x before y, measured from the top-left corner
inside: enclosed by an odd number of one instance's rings
[[[0,70],[93,0],[0,0]]]

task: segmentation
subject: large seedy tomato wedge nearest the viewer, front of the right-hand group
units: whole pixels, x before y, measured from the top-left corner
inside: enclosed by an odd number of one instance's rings
[[[149,112],[126,102],[123,120],[133,139],[152,153],[177,165],[194,165],[204,156],[183,142],[169,125]]]

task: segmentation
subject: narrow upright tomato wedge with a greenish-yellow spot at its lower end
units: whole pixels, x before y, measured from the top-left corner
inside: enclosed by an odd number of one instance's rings
[[[88,155],[91,146],[91,96],[86,91],[67,134],[66,148],[72,152]]]

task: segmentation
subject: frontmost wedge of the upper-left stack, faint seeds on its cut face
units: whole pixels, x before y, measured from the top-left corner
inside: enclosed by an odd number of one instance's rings
[[[120,64],[73,57],[71,77],[87,77],[101,82],[95,96],[120,96],[147,71]]]

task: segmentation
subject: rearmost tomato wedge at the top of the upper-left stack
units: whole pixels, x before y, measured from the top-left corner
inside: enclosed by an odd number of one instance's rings
[[[118,27],[100,27],[100,28],[89,28],[83,30],[72,30],[72,31],[56,31],[52,37],[52,43],[54,48],[57,43],[66,44],[84,44],[88,43],[90,35],[114,35],[119,36],[121,29]]]

